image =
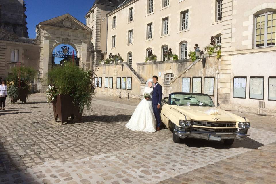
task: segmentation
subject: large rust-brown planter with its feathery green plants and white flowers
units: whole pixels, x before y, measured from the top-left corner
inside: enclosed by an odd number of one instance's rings
[[[49,72],[47,102],[52,102],[54,118],[62,123],[70,117],[81,119],[84,106],[91,110],[93,72],[83,71],[70,63],[56,66]]]

